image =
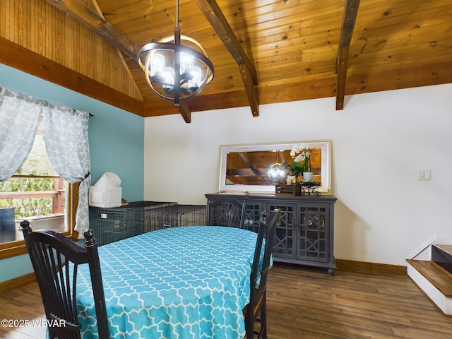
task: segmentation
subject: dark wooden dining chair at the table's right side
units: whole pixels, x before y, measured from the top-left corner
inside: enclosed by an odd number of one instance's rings
[[[254,339],[254,335],[257,335],[257,338],[267,339],[267,273],[270,269],[270,257],[279,219],[280,211],[275,209],[270,213],[268,219],[264,214],[261,225],[259,225],[251,268],[251,295],[249,304],[244,309],[246,339]],[[259,267],[262,249],[263,261],[262,266]],[[256,322],[261,323],[259,328],[256,328]]]

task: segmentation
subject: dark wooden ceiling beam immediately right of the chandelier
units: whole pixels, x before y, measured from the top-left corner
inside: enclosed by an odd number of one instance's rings
[[[201,9],[201,12],[210,25],[212,25],[213,30],[215,30],[220,40],[225,44],[227,50],[239,65],[240,75],[242,76],[246,96],[251,107],[251,114],[253,114],[253,117],[258,117],[258,80],[254,64],[246,56],[242,45],[235,36],[234,31],[227,22],[217,2],[215,0],[194,0],[194,2]]]

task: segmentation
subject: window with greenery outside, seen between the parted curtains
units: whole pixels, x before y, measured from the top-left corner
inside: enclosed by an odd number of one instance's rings
[[[0,182],[0,258],[25,253],[21,220],[34,230],[47,228],[73,235],[78,184],[54,172],[44,145],[42,116],[28,159],[18,172]]]

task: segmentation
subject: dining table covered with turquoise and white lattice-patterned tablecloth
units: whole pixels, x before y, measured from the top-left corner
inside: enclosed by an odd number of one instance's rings
[[[98,248],[111,338],[242,339],[257,234],[169,227]],[[83,339],[97,338],[88,267],[78,268]]]

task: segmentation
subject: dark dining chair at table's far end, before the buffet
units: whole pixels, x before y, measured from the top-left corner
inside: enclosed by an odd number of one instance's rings
[[[207,225],[243,228],[246,198],[243,203],[237,199],[223,197],[207,203]]]

